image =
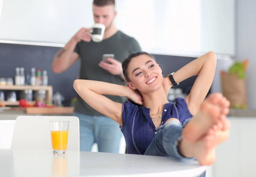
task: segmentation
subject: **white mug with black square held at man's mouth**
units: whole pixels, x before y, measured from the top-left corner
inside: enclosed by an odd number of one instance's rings
[[[90,36],[93,42],[96,42],[96,43],[101,42],[103,40],[104,32],[105,32],[105,25],[101,23],[95,23],[91,27],[91,31],[90,31]]]

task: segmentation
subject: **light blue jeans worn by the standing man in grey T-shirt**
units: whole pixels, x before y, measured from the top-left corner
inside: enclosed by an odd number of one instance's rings
[[[99,152],[119,153],[122,132],[119,124],[105,116],[90,116],[74,112],[79,118],[80,151],[91,151],[97,143]]]

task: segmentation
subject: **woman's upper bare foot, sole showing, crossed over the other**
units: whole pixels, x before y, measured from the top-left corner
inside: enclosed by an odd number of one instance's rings
[[[209,128],[228,114],[229,106],[229,101],[222,94],[210,94],[202,103],[198,114],[183,129],[183,139],[189,142],[201,139]]]

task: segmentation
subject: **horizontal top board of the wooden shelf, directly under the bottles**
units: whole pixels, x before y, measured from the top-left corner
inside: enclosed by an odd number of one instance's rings
[[[0,90],[51,90],[52,86],[0,86]]]

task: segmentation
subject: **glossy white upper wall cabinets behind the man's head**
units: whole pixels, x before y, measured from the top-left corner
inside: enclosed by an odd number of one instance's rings
[[[0,42],[63,45],[93,24],[93,0],[2,1]],[[236,0],[116,0],[115,24],[150,53],[234,55],[235,5]]]

